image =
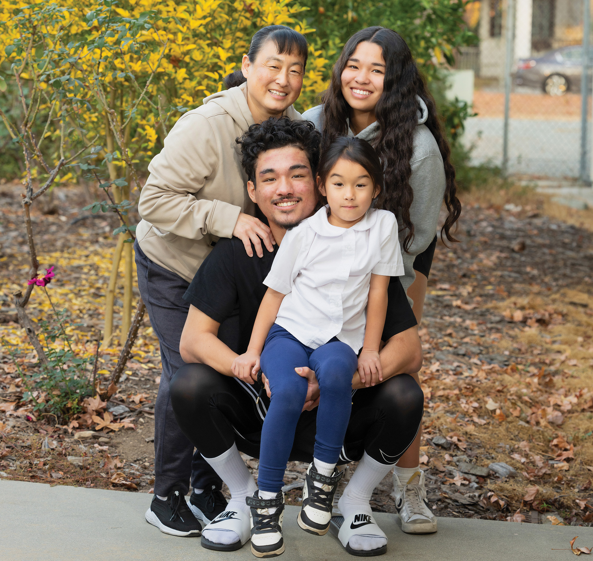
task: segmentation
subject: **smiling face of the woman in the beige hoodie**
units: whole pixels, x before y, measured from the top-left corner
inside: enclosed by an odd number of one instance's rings
[[[241,65],[247,78],[247,104],[256,123],[282,115],[301,94],[304,60],[295,53],[278,52],[267,40],[254,62],[247,55]]]

